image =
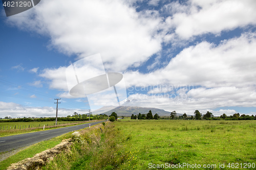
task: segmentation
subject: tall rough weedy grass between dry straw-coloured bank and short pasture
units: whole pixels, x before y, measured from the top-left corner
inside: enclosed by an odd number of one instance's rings
[[[121,134],[114,123],[85,129],[80,134],[70,152],[59,154],[41,169],[116,169],[132,155],[122,151]]]

